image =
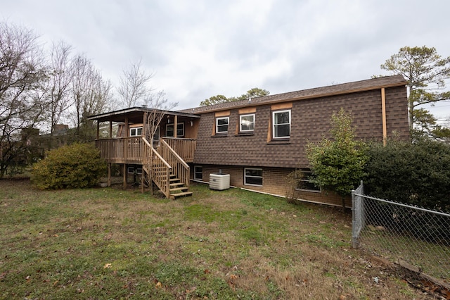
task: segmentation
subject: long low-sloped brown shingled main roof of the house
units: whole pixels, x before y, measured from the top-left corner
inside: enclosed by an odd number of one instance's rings
[[[280,103],[285,101],[319,98],[323,96],[334,96],[338,94],[349,94],[353,92],[362,92],[372,89],[380,89],[382,87],[399,87],[406,85],[407,81],[402,75],[377,77],[368,80],[360,80],[355,82],[342,83],[340,85],[328,85],[326,87],[316,87],[314,89],[303,89],[296,92],[288,92],[283,94],[275,94],[252,98],[249,100],[225,102],[214,104],[211,106],[200,106],[196,108],[187,108],[180,110],[182,113],[207,113],[210,111],[223,111],[230,108],[239,108],[245,106],[258,106],[262,104]]]

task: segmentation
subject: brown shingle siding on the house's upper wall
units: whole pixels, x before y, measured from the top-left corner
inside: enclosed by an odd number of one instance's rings
[[[406,87],[386,89],[387,135],[396,130],[399,137],[409,137]],[[200,120],[195,163],[248,165],[280,168],[306,167],[307,141],[319,142],[330,130],[330,118],[340,108],[352,113],[356,135],[361,139],[383,139],[381,90],[340,94],[294,101],[288,141],[267,142],[271,136],[271,105],[257,106],[252,135],[236,135],[238,108],[230,110],[226,137],[212,137],[214,113],[204,113]],[[269,130],[269,132],[268,132]]]

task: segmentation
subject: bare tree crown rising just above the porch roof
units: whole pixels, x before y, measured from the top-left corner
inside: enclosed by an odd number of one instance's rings
[[[141,59],[131,62],[129,68],[122,71],[120,84],[117,88],[120,99],[126,107],[136,106],[138,101],[146,103],[152,89],[148,87],[148,82],[153,77],[153,73],[146,73],[142,70]]]

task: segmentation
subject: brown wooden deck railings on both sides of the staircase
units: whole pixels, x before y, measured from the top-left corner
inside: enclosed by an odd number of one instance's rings
[[[194,159],[196,139],[162,138],[174,149],[186,163]],[[141,165],[144,156],[144,141],[142,137],[122,137],[113,139],[97,139],[96,147],[101,151],[102,158],[108,163],[127,163]]]

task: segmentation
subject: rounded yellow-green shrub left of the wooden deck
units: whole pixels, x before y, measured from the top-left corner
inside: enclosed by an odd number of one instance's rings
[[[72,144],[49,151],[35,163],[31,180],[38,189],[92,187],[105,170],[106,163],[94,144]]]

